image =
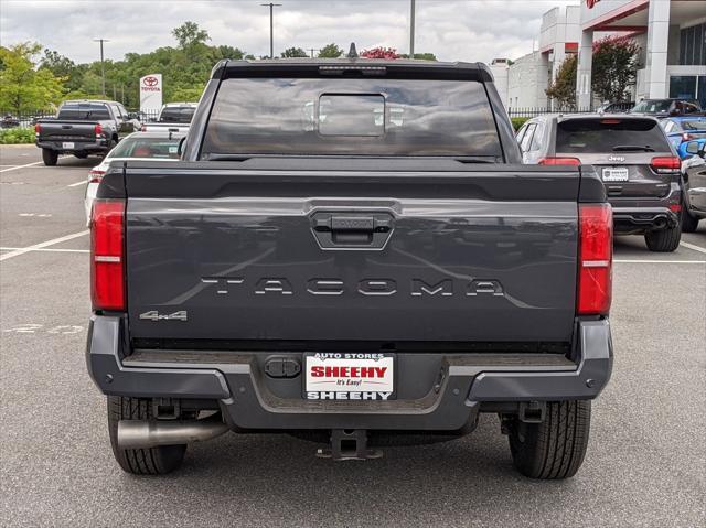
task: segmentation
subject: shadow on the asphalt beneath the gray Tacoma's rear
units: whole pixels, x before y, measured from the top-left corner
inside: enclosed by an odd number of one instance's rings
[[[576,489],[573,481],[531,481],[515,472],[494,416],[481,417],[470,435],[430,445],[386,448],[377,460],[317,459],[318,446],[276,434],[229,434],[194,444],[181,471],[162,477],[160,494],[169,496],[167,488],[173,488],[199,504],[200,510],[226,507],[234,526],[238,511],[253,515],[243,511],[253,505],[258,505],[263,526],[286,519],[290,526],[430,526],[441,515],[445,526],[450,526],[454,517],[467,524],[469,515],[516,521],[518,506],[532,510],[547,500],[554,507],[566,500],[568,508]],[[153,479],[126,478],[133,492],[153,491]]]

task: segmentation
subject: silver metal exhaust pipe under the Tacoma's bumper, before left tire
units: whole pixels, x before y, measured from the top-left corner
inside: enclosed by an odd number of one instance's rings
[[[149,449],[203,442],[220,437],[228,430],[228,425],[218,414],[189,421],[120,420],[118,448]]]

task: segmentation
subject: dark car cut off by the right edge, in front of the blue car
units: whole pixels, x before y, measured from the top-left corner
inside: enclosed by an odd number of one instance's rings
[[[698,229],[698,223],[706,218],[706,142],[689,141],[685,150],[689,158],[682,162],[682,230],[694,233]]]

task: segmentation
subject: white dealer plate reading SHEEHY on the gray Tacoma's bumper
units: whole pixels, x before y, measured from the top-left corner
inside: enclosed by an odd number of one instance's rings
[[[397,356],[393,353],[306,353],[302,398],[328,401],[383,401],[397,397]],[[313,367],[321,367],[314,373]],[[325,367],[339,367],[325,370]],[[342,370],[346,367],[347,370]],[[352,369],[357,370],[352,370]],[[379,369],[384,368],[384,373]],[[363,374],[362,369],[366,369]],[[372,369],[372,370],[371,370]],[[321,375],[322,374],[322,375]]]

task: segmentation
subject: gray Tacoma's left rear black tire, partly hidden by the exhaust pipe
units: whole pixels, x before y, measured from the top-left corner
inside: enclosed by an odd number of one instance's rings
[[[161,445],[148,449],[120,449],[118,446],[118,421],[149,420],[152,401],[140,398],[108,396],[108,431],[110,446],[120,467],[135,475],[163,475],[176,470],[184,460],[186,445]]]

